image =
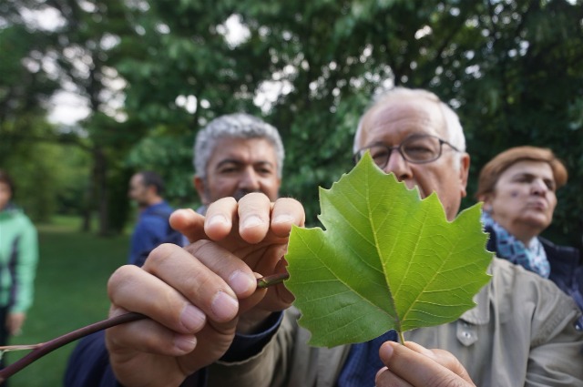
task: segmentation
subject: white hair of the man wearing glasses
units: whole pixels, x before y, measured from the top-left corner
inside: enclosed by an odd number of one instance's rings
[[[465,152],[464,129],[459,122],[459,117],[457,117],[457,114],[451,107],[445,104],[445,102],[439,99],[434,93],[421,88],[394,87],[374,98],[373,105],[366,110],[358,122],[358,127],[354,134],[353,151],[356,152],[362,147],[362,145],[359,144],[359,141],[363,132],[363,118],[373,109],[388,105],[393,101],[402,101],[404,99],[425,99],[429,102],[438,104],[445,120],[445,131],[449,137],[447,138],[447,141],[460,150],[459,157],[455,158],[456,168],[459,168],[459,161],[462,154]]]

